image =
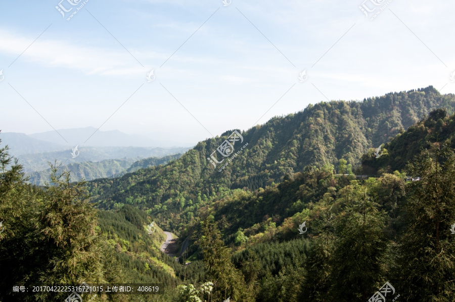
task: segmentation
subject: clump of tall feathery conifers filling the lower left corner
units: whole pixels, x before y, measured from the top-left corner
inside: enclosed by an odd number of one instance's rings
[[[69,174],[57,175],[45,191],[24,183],[22,167],[14,164],[7,148],[0,149],[2,233],[0,292],[11,295],[13,285],[80,284],[104,281],[96,210],[88,203],[84,183],[71,184]],[[19,269],[18,269],[19,267]],[[5,297],[5,296],[4,296]],[[36,293],[24,300],[61,298],[55,292]],[[2,296],[0,296],[2,298]]]

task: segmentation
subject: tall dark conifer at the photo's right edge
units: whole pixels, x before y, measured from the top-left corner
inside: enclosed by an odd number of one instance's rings
[[[399,290],[410,300],[455,299],[455,154],[434,143],[407,165],[410,184],[405,230],[397,249]]]

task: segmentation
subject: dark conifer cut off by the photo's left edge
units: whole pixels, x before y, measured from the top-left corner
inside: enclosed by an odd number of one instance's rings
[[[8,149],[0,148],[0,300],[11,300],[13,286],[35,269],[41,243],[34,236],[39,190],[26,185],[22,166]]]

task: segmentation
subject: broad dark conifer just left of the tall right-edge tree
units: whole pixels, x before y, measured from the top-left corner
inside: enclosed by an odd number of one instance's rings
[[[339,301],[366,302],[385,273],[385,216],[358,181],[351,181],[345,189],[350,198],[336,222],[330,293]]]

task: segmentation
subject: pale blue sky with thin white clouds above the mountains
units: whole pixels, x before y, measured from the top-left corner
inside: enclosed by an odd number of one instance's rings
[[[59,1],[0,2],[4,132],[188,143],[321,100],[455,92],[453,1]]]

